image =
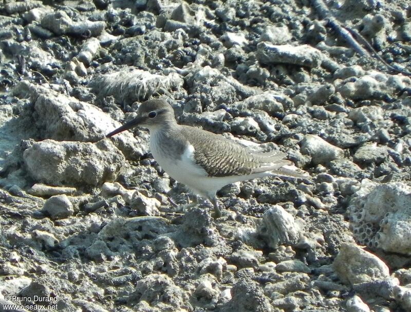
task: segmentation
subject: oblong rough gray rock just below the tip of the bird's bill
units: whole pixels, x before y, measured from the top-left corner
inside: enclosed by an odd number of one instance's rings
[[[124,156],[108,140],[97,143],[34,143],[23,153],[30,176],[54,186],[97,186],[113,181],[124,167]]]

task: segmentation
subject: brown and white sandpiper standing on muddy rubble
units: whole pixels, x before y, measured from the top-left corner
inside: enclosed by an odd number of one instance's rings
[[[216,193],[222,187],[266,176],[307,179],[293,169],[287,154],[254,152],[233,140],[198,127],[177,123],[173,107],[164,99],[143,102],[137,117],[108,133],[110,138],[136,126],[150,132],[150,151],[160,167],[194,194],[208,198],[220,217]]]

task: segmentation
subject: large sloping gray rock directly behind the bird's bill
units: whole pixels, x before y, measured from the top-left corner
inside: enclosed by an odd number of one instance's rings
[[[34,98],[35,126],[41,138],[64,141],[96,142],[120,126],[95,105],[80,102],[40,85],[21,82],[15,90],[18,95],[30,94]],[[47,118],[45,118],[47,116]],[[142,156],[141,140],[129,132],[112,138],[127,158]]]

